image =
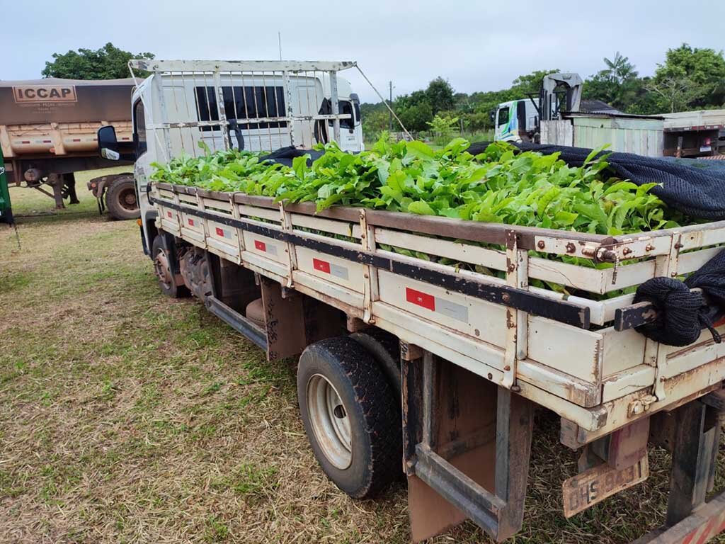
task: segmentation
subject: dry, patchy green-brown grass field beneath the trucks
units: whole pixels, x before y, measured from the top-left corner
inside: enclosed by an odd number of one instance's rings
[[[135,221],[81,204],[0,227],[0,542],[405,543],[405,486],[354,501],[318,468],[294,361],[156,287]],[[16,214],[52,201],[11,189]],[[663,522],[669,463],[566,520],[576,453],[537,416],[515,543],[626,543]],[[716,487],[724,487],[723,466]],[[434,543],[488,543],[464,524]],[[721,540],[725,542],[725,540]]]

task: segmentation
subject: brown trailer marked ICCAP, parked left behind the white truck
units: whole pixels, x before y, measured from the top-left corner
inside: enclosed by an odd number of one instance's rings
[[[120,143],[133,147],[132,91],[130,78],[0,81],[0,148],[9,183],[41,191],[57,208],[65,207],[64,199],[78,202],[75,172],[119,165],[99,157],[99,127],[115,125]],[[130,169],[88,182],[99,211],[107,208],[116,219],[138,217],[133,187]]]

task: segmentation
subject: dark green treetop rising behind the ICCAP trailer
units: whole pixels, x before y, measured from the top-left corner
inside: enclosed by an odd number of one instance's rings
[[[120,79],[128,78],[130,59],[153,59],[152,53],[130,53],[107,43],[101,49],[78,49],[67,53],[54,53],[52,62],[46,62],[44,78],[68,79]],[[143,75],[143,74],[142,74]]]

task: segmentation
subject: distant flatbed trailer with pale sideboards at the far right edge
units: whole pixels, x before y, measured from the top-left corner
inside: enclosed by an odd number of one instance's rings
[[[725,110],[665,113],[666,157],[725,154]]]

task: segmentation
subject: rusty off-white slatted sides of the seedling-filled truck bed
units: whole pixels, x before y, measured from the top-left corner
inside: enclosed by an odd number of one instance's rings
[[[725,378],[725,346],[708,331],[685,348],[660,345],[632,328],[653,319],[651,308],[632,294],[602,296],[696,271],[721,250],[725,222],[612,237],[349,207],[315,213],[168,184],[149,197],[159,229],[513,387],[571,421],[584,442]],[[576,296],[530,287],[534,279]],[[717,328],[725,334],[725,323]]]

